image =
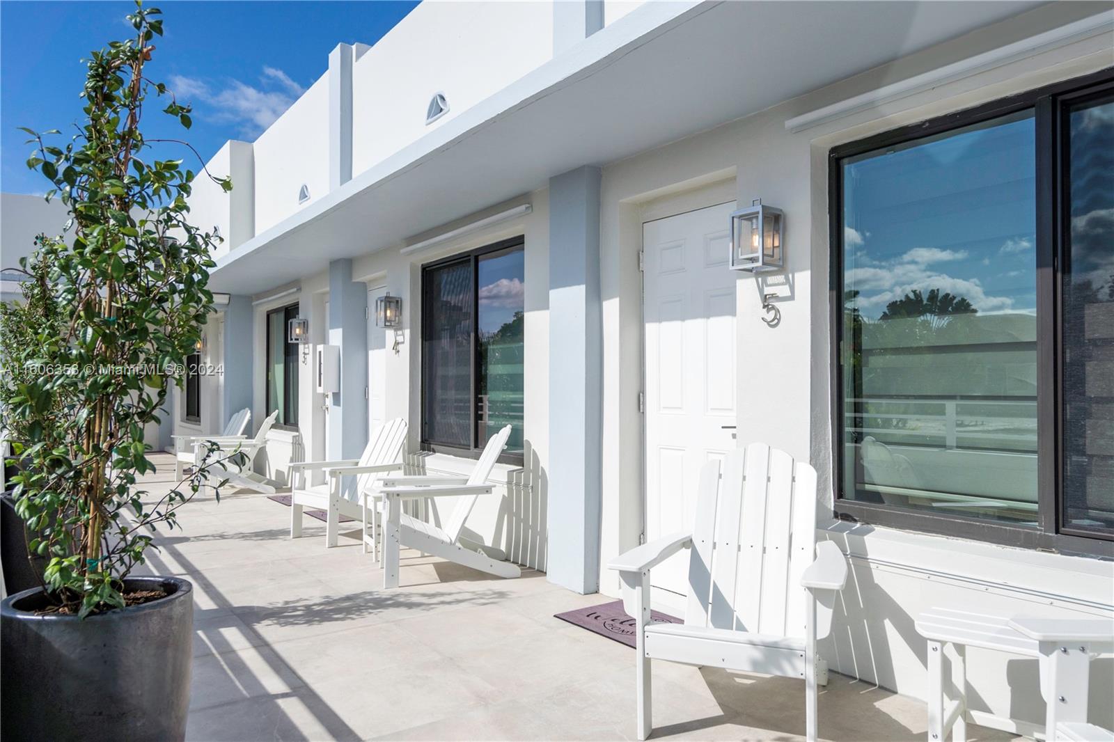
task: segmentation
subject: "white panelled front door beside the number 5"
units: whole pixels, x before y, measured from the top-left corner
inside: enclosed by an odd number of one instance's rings
[[[646,539],[691,529],[701,466],[735,448],[735,204],[643,224]],[[688,553],[651,574],[653,599],[681,611]]]

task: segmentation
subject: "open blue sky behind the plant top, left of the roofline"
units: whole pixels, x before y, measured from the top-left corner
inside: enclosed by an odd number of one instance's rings
[[[226,139],[252,141],[325,72],[340,42],[374,43],[417,2],[147,2],[163,10],[165,36],[147,74],[192,101],[193,127],[148,107],[148,138],[189,141],[204,158]],[[0,2],[0,189],[42,193],[25,164],[27,135],[67,129],[81,116],[81,59],[131,35],[134,2]],[[185,136],[183,136],[183,134]],[[159,158],[188,153],[156,150]],[[150,157],[150,155],[148,155]],[[187,165],[192,163],[187,159]],[[194,167],[196,169],[196,167]]]

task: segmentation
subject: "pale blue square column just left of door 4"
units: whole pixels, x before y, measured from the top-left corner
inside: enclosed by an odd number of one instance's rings
[[[340,391],[328,396],[329,459],[360,458],[368,445],[368,286],[352,281],[352,261],[329,264],[329,344],[341,349]]]

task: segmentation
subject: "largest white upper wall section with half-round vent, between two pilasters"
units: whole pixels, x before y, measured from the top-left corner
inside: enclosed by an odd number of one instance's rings
[[[550,2],[421,3],[354,65],[353,176],[551,56]],[[449,113],[427,126],[436,92]]]

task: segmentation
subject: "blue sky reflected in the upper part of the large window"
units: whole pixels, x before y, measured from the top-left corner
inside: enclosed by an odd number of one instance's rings
[[[878,319],[932,289],[980,313],[1036,313],[1032,111],[883,148],[846,165],[846,287]]]

